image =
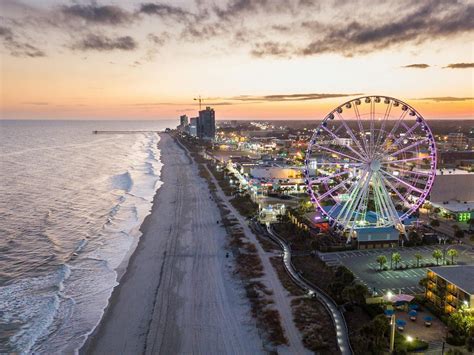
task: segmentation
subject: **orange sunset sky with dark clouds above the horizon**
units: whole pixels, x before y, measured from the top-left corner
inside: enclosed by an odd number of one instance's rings
[[[474,2],[0,0],[0,118],[474,118]]]

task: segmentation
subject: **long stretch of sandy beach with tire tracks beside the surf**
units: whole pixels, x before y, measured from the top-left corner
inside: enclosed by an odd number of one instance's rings
[[[163,185],[127,271],[81,353],[256,354],[262,340],[230,274],[207,184],[161,135]]]

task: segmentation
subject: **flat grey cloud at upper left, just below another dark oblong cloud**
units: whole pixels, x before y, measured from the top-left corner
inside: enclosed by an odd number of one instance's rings
[[[75,50],[132,51],[138,47],[137,42],[130,36],[110,38],[104,35],[89,34],[72,45]]]

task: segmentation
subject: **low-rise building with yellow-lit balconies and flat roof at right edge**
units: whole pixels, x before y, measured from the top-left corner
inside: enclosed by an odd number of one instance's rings
[[[474,305],[474,265],[428,268],[426,298],[446,313]]]

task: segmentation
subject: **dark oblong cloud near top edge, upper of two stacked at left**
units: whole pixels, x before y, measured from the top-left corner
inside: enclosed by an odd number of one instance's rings
[[[134,16],[118,6],[99,6],[95,3],[89,5],[62,6],[61,12],[71,19],[84,20],[88,24],[119,26],[130,23]]]

